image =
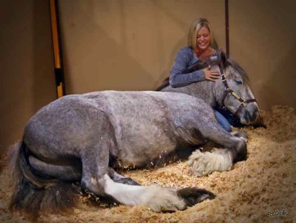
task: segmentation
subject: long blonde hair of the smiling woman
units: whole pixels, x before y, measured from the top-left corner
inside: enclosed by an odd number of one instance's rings
[[[207,19],[199,18],[196,19],[191,23],[191,26],[189,28],[188,32],[188,46],[193,49],[193,51],[196,50],[196,38],[198,37],[198,31],[200,31],[201,28],[208,28],[210,33],[210,45],[213,45],[214,39],[213,39],[213,32],[211,29],[211,25]]]

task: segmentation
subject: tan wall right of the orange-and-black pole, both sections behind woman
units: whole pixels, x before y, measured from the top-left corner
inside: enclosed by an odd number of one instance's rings
[[[230,56],[248,72],[264,110],[296,107],[292,3],[229,0]],[[223,0],[63,0],[59,6],[70,94],[155,89],[187,45],[187,30],[197,17],[209,19],[226,50]]]

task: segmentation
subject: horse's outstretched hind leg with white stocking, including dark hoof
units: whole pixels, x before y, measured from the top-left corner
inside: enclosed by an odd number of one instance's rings
[[[198,202],[198,198],[201,200],[208,198],[204,191],[200,193],[198,189],[177,191],[176,189],[154,185],[149,187],[130,185],[134,184],[131,180],[124,180],[124,183],[120,182],[124,179],[123,176],[118,175],[109,167],[109,151],[115,146],[114,129],[105,114],[101,114],[100,118],[100,123],[96,124],[99,136],[96,134],[96,137],[93,138],[92,147],[87,145],[87,148],[81,149],[80,152],[82,162],[81,187],[83,189],[95,195],[113,198],[121,204],[145,205],[153,211],[161,211],[162,209],[183,210],[189,204]],[[189,195],[194,198],[189,198]],[[209,194],[209,196],[211,195]]]

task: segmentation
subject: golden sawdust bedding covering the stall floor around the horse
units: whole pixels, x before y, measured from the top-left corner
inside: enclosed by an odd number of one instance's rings
[[[39,222],[293,222],[296,221],[296,118],[290,107],[262,111],[267,128],[244,127],[248,159],[231,171],[196,178],[186,162],[159,169],[123,171],[143,185],[200,187],[213,191],[207,200],[176,213],[154,213],[145,206],[103,206],[82,197],[70,214],[41,216]],[[12,182],[1,161],[0,222],[30,222],[7,209]],[[271,217],[271,212],[281,215]]]

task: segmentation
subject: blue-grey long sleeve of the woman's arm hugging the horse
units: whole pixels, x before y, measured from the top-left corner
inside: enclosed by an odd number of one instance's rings
[[[196,61],[196,60],[195,60]],[[204,72],[196,70],[194,72],[184,74],[184,70],[192,65],[193,54],[189,47],[183,47],[177,54],[173,68],[169,74],[169,84],[171,87],[183,87],[193,82],[204,81]]]

